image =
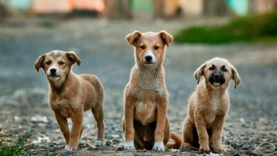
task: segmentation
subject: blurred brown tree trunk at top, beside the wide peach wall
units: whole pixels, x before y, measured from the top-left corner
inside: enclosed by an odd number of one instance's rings
[[[132,18],[130,0],[105,0],[105,16],[109,19]]]

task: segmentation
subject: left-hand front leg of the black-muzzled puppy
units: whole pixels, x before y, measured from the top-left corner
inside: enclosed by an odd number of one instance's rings
[[[206,130],[206,123],[204,122],[203,116],[200,112],[195,112],[195,125],[199,137],[199,150],[209,151],[210,147],[208,146],[208,132]]]

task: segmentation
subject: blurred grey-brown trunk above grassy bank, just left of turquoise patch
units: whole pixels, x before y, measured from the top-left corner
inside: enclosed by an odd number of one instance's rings
[[[204,15],[225,16],[229,10],[225,0],[204,0]]]

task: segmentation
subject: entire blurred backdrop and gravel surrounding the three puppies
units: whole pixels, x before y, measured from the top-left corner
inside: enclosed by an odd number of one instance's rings
[[[227,154],[277,155],[276,0],[0,0],[0,155],[56,155],[64,148],[48,107],[46,76],[33,66],[54,49],[75,51],[82,62],[73,71],[102,81],[109,141],[104,150],[115,155],[123,141],[123,90],[134,65],[125,36],[135,30],[174,36],[164,62],[173,132],[181,134],[195,69],[226,58],[242,78],[238,89],[233,82],[229,88],[222,137]],[[97,133],[91,112],[84,123],[77,153],[101,154],[91,146]],[[164,154],[172,153],[198,154]]]

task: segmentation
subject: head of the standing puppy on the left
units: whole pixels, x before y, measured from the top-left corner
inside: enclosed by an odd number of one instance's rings
[[[81,60],[74,51],[50,51],[37,58],[35,69],[44,69],[48,80],[65,80],[75,62],[80,65]]]

